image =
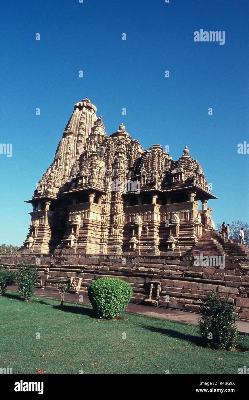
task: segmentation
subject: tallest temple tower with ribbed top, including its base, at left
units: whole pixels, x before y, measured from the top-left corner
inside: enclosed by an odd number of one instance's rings
[[[97,120],[97,108],[88,98],[75,104],[62,134],[53,163],[43,174],[31,200],[33,211],[28,236],[22,252],[53,252],[63,237],[65,229],[67,191],[72,177],[79,169],[84,145]]]

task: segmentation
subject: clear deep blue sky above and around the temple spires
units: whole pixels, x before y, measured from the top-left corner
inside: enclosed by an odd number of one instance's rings
[[[108,135],[123,122],[144,149],[168,145],[176,160],[189,147],[219,197],[208,203],[215,224],[248,221],[249,154],[237,153],[249,143],[248,10],[247,0],[2,2],[0,143],[13,155],[0,154],[0,244],[22,245],[24,200],[86,93]],[[225,31],[225,44],[194,42],[201,29]]]

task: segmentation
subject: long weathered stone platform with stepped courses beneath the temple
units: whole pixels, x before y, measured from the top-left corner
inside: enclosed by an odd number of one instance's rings
[[[204,246],[203,254],[208,254],[206,250]],[[213,255],[213,249],[210,251]],[[193,255],[0,254],[0,265],[18,270],[20,264],[31,262],[38,268],[37,288],[54,290],[58,282],[68,282],[71,293],[83,296],[92,280],[113,276],[131,284],[131,303],[145,304],[144,300],[151,300],[154,306],[195,313],[201,312],[201,294],[218,288],[221,294],[230,292],[237,318],[249,320],[249,257],[225,257],[224,269],[194,266]]]

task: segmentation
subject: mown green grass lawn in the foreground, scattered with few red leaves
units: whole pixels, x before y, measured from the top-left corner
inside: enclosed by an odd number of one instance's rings
[[[202,348],[194,325],[125,312],[128,320],[98,322],[90,306],[32,300],[0,297],[0,367],[13,374],[237,374],[249,366],[249,352]],[[238,343],[249,347],[249,336]]]

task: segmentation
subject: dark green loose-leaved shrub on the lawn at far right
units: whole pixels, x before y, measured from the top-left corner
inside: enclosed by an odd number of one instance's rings
[[[203,313],[198,324],[205,344],[222,350],[235,350],[238,330],[233,312],[236,308],[229,304],[229,293],[221,297],[213,290],[207,294],[207,299],[202,296],[201,301]]]

